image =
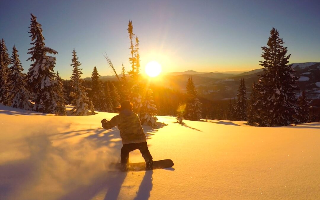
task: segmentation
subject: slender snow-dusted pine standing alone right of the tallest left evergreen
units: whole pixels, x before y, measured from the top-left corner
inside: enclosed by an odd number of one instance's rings
[[[88,115],[89,110],[94,110],[92,101],[87,97],[84,86],[81,84],[82,69],[79,68],[81,63],[78,61],[75,49],[72,52],[72,59],[70,66],[73,67],[71,78],[72,91],[70,97],[72,97],[71,104],[75,107],[71,109],[73,115]],[[92,115],[93,115],[92,111]]]

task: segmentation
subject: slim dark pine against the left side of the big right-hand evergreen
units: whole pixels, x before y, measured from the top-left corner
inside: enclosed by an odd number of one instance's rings
[[[258,90],[257,84],[253,83],[252,91],[249,97],[249,105],[248,105],[248,124],[254,125],[257,122],[257,115],[258,115],[258,107],[257,107],[257,99],[258,99]]]

